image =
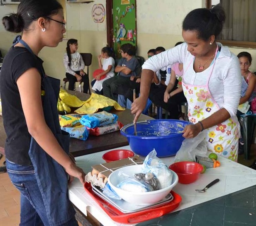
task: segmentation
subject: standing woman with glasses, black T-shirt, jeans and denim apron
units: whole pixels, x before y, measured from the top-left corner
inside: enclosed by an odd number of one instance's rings
[[[0,76],[6,168],[20,191],[20,226],[78,226],[68,180],[83,183],[85,174],[70,158],[69,135],[59,125],[60,80],[45,75],[38,56],[63,39],[62,6],[57,0],[22,0],[2,23],[22,33],[5,55]]]

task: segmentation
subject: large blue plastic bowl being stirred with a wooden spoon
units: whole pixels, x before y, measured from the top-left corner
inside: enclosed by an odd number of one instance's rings
[[[132,123],[122,127],[121,134],[126,136],[134,153],[147,156],[154,148],[158,157],[176,155],[184,140],[182,131],[187,121],[175,119],[156,119],[137,122],[137,136]]]

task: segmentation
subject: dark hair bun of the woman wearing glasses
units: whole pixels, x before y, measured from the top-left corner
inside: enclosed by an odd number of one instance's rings
[[[17,13],[2,18],[2,24],[8,32],[20,33],[24,28],[22,17]]]

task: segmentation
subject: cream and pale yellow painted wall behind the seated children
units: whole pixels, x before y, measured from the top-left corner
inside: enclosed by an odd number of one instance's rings
[[[183,41],[181,36],[182,21],[185,15],[198,7],[204,7],[205,0],[137,0],[137,45],[138,55],[146,58],[149,49],[163,46],[166,49]],[[103,23],[95,23],[91,17],[94,4],[106,5],[105,0],[91,3],[66,4],[67,39],[78,39],[78,51],[93,54],[90,77],[98,68],[97,55],[107,44],[106,19]],[[157,9],[157,10],[156,10]],[[10,12],[16,12],[17,5],[0,6],[0,18]],[[5,54],[11,46],[15,34],[5,32],[0,26],[0,49]],[[44,48],[40,57],[44,60],[46,73],[62,80],[65,70],[62,63],[66,49],[66,40],[56,48]],[[256,70],[256,50],[230,48],[235,54],[249,51],[253,62],[251,70]],[[255,59],[255,60],[254,60]]]

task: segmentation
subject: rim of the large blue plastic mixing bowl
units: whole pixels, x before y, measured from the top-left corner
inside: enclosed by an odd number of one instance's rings
[[[178,120],[178,119],[152,119],[152,120],[144,120],[144,121],[140,121],[140,122],[137,122],[137,124],[139,123],[146,123],[146,122],[151,122],[151,121],[177,121],[177,122],[185,122],[185,124],[192,124],[191,122],[188,122],[188,121],[182,121],[182,120]],[[123,126],[121,129],[120,129],[120,132],[122,135],[126,136],[126,137],[129,137],[129,138],[134,138],[134,139],[166,139],[166,138],[171,138],[171,137],[176,137],[176,136],[181,136],[183,133],[175,133],[175,134],[170,134],[170,135],[166,135],[166,136],[137,136],[137,135],[132,135],[132,134],[127,134],[125,133],[125,130],[128,128],[128,127],[131,127],[131,126],[134,126],[133,123],[129,123],[125,126]]]

